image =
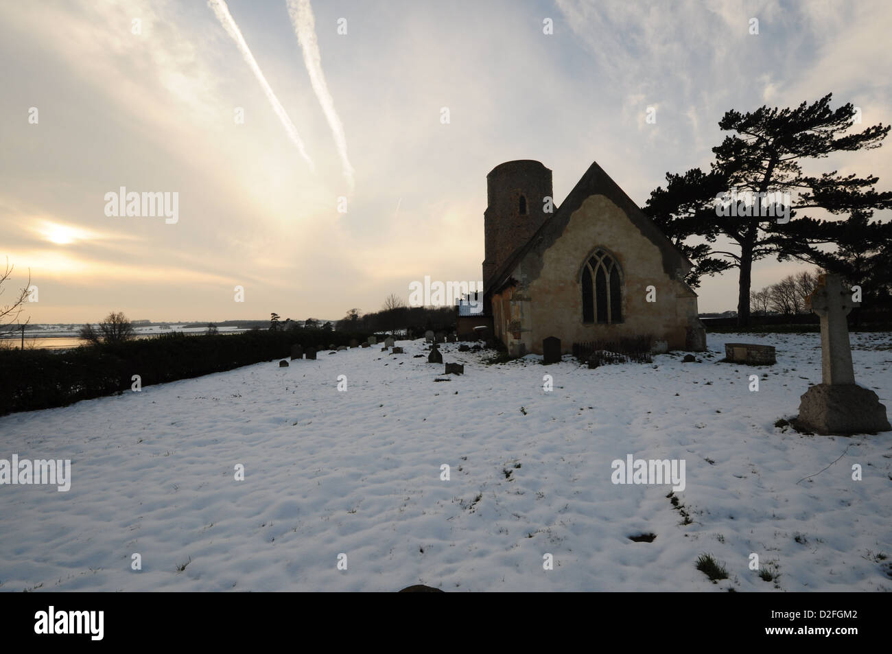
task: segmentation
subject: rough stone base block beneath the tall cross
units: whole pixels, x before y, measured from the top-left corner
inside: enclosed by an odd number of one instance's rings
[[[818,384],[802,394],[797,425],[822,435],[892,430],[880,397],[856,384]]]

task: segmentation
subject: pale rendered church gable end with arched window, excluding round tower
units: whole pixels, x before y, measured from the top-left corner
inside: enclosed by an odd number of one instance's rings
[[[648,336],[690,344],[697,295],[688,261],[592,164],[558,211],[492,276],[493,327],[515,354],[541,353],[549,336],[574,343]],[[696,348],[691,348],[696,349]]]

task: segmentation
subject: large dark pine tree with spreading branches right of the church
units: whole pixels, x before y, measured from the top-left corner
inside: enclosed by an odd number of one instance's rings
[[[873,250],[888,252],[888,228],[864,223],[873,210],[892,208],[892,193],[874,189],[878,178],[840,175],[837,170],[818,177],[803,172],[807,160],[880,147],[888,135],[889,127],[882,124],[848,133],[855,124],[855,107],[847,103],[832,110],[830,97],[801,103],[796,109],[763,106],[755,112],[726,112],[719,128],[732,134],[713,148],[711,170],[667,173],[666,188],[654,190],[643,208],[695,263],[689,283],[696,286],[703,275],[739,269],[740,326],[749,322],[755,261],[770,255],[780,260],[795,257],[834,271],[846,257],[828,255],[822,247],[855,236],[853,230],[858,230],[862,243],[872,239]],[[752,194],[754,202],[729,203],[732,194]],[[849,214],[849,219],[816,219],[807,215],[809,210]],[[693,236],[700,242],[690,244]],[[714,250],[719,236],[730,240],[737,251]]]

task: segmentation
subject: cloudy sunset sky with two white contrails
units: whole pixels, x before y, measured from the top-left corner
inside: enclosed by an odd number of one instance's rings
[[[884,0],[5,2],[0,304],[30,274],[37,323],[340,319],[479,280],[502,161],[544,163],[557,203],[598,161],[643,204],[730,109],[832,93],[889,124],[890,26]],[[889,152],[818,170],[888,190]],[[176,215],[107,215],[121,187]],[[735,309],[737,271],[697,290]]]

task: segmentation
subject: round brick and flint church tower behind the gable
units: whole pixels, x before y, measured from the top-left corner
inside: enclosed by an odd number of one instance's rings
[[[490,277],[549,217],[545,198],[554,196],[551,170],[530,159],[506,161],[493,168],[486,176],[486,189],[483,286],[488,288]]]

